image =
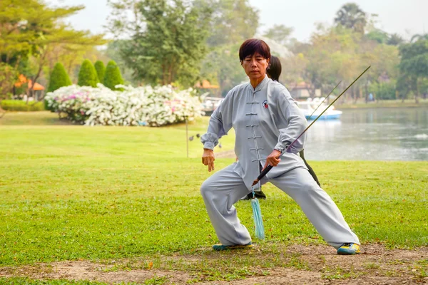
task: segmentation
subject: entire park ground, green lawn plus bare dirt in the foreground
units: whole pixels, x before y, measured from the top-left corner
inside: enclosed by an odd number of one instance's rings
[[[218,240],[199,192],[210,175],[197,138],[207,125],[189,124],[187,155],[183,124],[86,127],[49,112],[7,113],[0,284],[428,282],[427,162],[310,161],[362,254],[335,254],[272,185],[260,202],[266,239],[213,252]],[[221,139],[216,170],[233,162],[233,141],[233,132]],[[254,236],[250,202],[236,207]]]

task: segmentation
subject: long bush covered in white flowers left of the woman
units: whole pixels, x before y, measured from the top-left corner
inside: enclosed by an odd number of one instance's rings
[[[67,118],[85,125],[161,126],[194,120],[203,115],[202,105],[192,88],[172,86],[117,86],[113,91],[102,84],[66,86],[50,92],[45,100],[49,110],[66,113]]]

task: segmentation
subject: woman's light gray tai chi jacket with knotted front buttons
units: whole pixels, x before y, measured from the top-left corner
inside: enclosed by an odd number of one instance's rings
[[[235,130],[235,154],[238,156],[233,171],[243,177],[245,186],[260,174],[260,164],[275,150],[284,151],[307,127],[307,120],[285,86],[265,76],[256,88],[241,84],[229,91],[211,115],[208,131],[201,136],[203,147],[213,150],[218,139]],[[277,177],[296,167],[307,169],[297,155],[304,148],[306,133],[295,142],[290,152],[281,156],[266,178]]]

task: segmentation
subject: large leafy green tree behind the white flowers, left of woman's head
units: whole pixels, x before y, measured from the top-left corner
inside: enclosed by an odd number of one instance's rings
[[[134,76],[151,84],[193,86],[207,52],[210,9],[184,0],[137,4],[144,28],[135,28],[131,41],[121,48]]]

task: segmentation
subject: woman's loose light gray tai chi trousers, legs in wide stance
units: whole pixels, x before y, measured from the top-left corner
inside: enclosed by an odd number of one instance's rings
[[[233,171],[234,165],[215,172],[200,187],[205,207],[223,245],[248,244],[248,229],[240,223],[235,202],[248,194],[243,179]],[[339,208],[322,190],[305,168],[295,168],[261,183],[271,182],[290,195],[305,212],[322,238],[336,249],[345,242],[360,244],[358,237],[345,222]]]

